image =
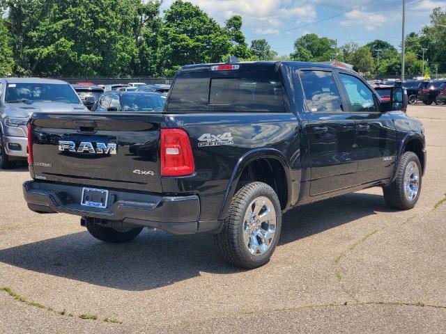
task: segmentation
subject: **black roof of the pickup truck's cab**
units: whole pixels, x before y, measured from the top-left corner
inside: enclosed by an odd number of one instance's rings
[[[180,68],[179,72],[203,72],[210,70],[212,66],[218,65],[239,65],[240,70],[258,70],[258,71],[275,71],[280,65],[291,65],[298,68],[321,68],[331,70],[344,70],[346,72],[354,72],[345,68],[323,63],[305,63],[302,61],[242,61],[239,63],[213,63],[213,64],[196,64],[185,65]]]

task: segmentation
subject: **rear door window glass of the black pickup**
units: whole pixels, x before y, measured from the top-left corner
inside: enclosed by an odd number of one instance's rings
[[[312,113],[341,113],[342,100],[332,72],[300,72],[305,104]]]

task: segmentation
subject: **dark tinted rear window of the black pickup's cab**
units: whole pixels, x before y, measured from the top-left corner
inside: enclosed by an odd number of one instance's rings
[[[226,71],[180,74],[168,111],[285,111],[279,73]]]

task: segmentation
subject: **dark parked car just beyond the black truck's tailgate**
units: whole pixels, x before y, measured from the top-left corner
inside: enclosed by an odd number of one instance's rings
[[[91,111],[162,111],[165,103],[159,93],[114,90],[102,94]]]

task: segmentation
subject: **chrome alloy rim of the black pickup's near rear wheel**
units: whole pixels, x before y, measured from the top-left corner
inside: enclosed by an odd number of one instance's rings
[[[276,233],[276,210],[266,197],[258,197],[249,204],[243,225],[245,247],[254,256],[263,255],[270,248]]]

